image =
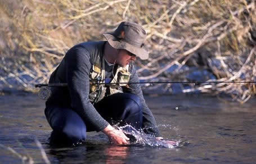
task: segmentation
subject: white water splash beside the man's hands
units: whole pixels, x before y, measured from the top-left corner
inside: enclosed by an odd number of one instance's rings
[[[150,147],[174,148],[179,146],[179,142],[168,140],[158,140],[153,135],[140,132],[131,125],[118,127],[130,139],[130,144],[149,145]]]

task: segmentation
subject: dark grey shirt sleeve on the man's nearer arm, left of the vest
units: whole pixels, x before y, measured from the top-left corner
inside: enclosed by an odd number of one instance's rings
[[[109,123],[96,111],[88,97],[91,70],[89,52],[83,47],[74,47],[66,53],[65,62],[71,107],[96,131],[105,129]]]

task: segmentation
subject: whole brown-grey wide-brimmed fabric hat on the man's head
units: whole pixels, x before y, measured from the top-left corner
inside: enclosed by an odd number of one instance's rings
[[[142,60],[149,58],[149,53],[144,47],[147,34],[142,26],[133,22],[123,21],[113,33],[105,33],[103,35],[112,47],[126,49]]]

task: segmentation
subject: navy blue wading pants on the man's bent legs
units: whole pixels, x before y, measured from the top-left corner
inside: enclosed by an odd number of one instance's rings
[[[136,129],[142,127],[142,104],[140,98],[131,93],[116,93],[102,99],[96,110],[109,124],[119,126],[130,124]],[[95,131],[86,120],[71,108],[50,106],[44,111],[53,131],[50,144],[76,144],[86,140],[87,131]]]

